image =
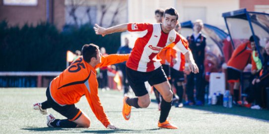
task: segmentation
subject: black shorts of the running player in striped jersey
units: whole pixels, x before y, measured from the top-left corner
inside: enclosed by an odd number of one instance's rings
[[[162,67],[151,72],[139,72],[126,67],[126,76],[131,88],[135,92],[135,96],[143,96],[148,93],[145,87],[146,81],[150,86],[167,81]]]

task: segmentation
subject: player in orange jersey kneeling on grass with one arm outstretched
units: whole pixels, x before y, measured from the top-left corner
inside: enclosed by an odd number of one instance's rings
[[[96,118],[106,127],[117,129],[108,120],[98,96],[96,68],[126,61],[130,54],[110,54],[102,56],[94,44],[83,45],[79,56],[64,72],[54,78],[46,91],[47,100],[35,103],[34,109],[47,114],[48,108],[67,117],[65,120],[47,116],[47,125],[54,128],[89,128],[90,119],[75,103],[85,95]]]

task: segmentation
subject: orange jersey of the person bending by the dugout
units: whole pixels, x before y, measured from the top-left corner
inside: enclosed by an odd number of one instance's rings
[[[247,64],[252,63],[252,70],[256,65],[251,62],[251,45],[250,42],[239,45],[232,53],[232,57],[227,63],[227,66],[243,71]]]

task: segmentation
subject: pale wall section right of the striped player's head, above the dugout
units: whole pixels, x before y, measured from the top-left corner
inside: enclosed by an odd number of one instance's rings
[[[177,0],[179,20],[202,19],[204,23],[225,29],[223,12],[239,9],[239,0]]]

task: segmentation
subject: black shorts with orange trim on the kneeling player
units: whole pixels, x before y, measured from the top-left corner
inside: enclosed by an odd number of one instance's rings
[[[48,88],[46,91],[46,96],[47,96],[47,101],[49,103],[49,105],[58,113],[60,113],[61,115],[67,117],[67,119],[69,121],[74,121],[76,119],[78,119],[81,115],[82,112],[75,107],[74,104],[72,105],[65,105],[65,106],[61,106],[58,103],[56,103],[53,98],[51,97],[51,93],[50,93],[50,89]]]

